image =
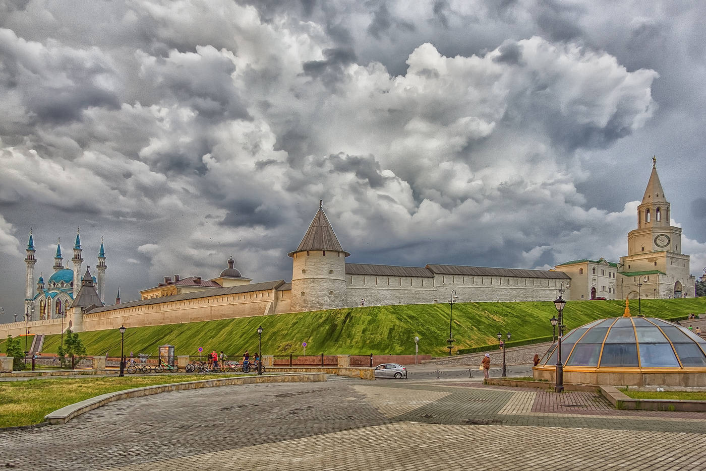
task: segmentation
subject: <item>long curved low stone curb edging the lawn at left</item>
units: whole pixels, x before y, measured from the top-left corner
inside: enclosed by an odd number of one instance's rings
[[[143,388],[127,389],[114,393],[102,394],[94,398],[82,400],[78,403],[66,405],[54,410],[44,416],[44,421],[49,424],[66,424],[74,417],[78,417],[84,412],[100,408],[102,405],[112,403],[114,400],[126,398],[139,398],[151,396],[152,394],[165,393],[168,391],[184,391],[186,389],[212,388],[216,386],[231,386],[233,384],[259,384],[259,383],[289,383],[298,381],[326,381],[325,373],[309,374],[277,374],[249,377],[229,377],[217,379],[203,379],[201,381],[187,381],[184,383],[158,384],[155,386],[145,386]],[[37,424],[27,427],[37,427]]]

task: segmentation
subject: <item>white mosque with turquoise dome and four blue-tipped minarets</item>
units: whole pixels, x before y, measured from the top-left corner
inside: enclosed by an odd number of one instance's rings
[[[59,239],[59,242],[56,243],[56,255],[54,256],[54,273],[49,276],[49,280],[46,283],[42,274],[35,282],[35,264],[37,259],[35,258],[36,250],[31,230],[26,252],[25,313],[29,315],[32,321],[66,317],[82,285],[81,265],[83,264],[83,257],[81,257],[81,252],[83,252],[83,249],[81,248],[79,231],[76,231],[76,243],[73,245],[73,258],[71,259],[73,267],[70,268],[68,266],[69,262],[64,267],[64,258],[61,256],[61,239]],[[108,268],[105,260],[105,249],[101,238],[98,262],[95,267],[97,278],[92,276],[91,279],[92,286],[95,286],[97,297],[100,298],[102,305],[105,304],[105,271]],[[90,276],[88,269],[86,272],[85,276]],[[84,280],[85,276],[83,277]]]

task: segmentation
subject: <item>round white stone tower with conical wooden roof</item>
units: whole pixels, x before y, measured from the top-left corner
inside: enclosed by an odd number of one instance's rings
[[[345,307],[346,257],[322,202],[292,257],[292,311]]]

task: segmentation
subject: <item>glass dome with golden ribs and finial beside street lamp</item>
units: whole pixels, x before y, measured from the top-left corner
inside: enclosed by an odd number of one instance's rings
[[[556,365],[556,343],[540,367]],[[565,368],[706,367],[706,340],[686,327],[654,317],[611,317],[573,329],[561,340]]]

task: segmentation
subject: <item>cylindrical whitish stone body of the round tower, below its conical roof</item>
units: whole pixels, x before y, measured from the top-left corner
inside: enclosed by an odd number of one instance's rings
[[[344,253],[330,250],[295,253],[292,262],[292,311],[345,307],[345,259]]]

